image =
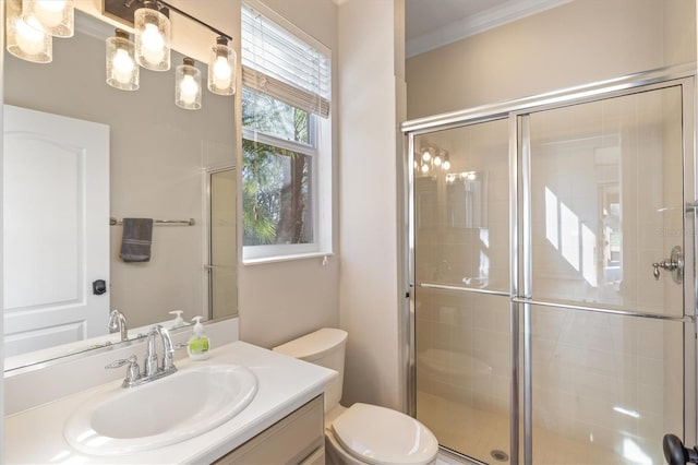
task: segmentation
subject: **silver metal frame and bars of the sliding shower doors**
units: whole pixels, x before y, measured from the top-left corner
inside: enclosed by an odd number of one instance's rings
[[[687,217],[693,218],[694,235],[691,243],[685,247],[687,258],[684,293],[684,315],[664,317],[651,313],[621,311],[594,307],[579,307],[558,305],[552,302],[531,300],[531,238],[530,238],[530,187],[528,176],[521,169],[527,170],[529,160],[528,118],[527,115],[534,111],[559,108],[565,106],[585,104],[612,97],[619,97],[642,91],[658,90],[667,86],[681,85],[683,99],[683,158],[684,158],[684,204],[687,215],[684,215],[684,226]],[[697,346],[696,346],[696,317],[698,315],[698,277],[696,273],[696,251],[698,250],[698,229],[696,227],[698,216],[698,192],[696,191],[696,63],[666,67],[640,73],[634,73],[616,79],[604,80],[587,85],[575,86],[563,91],[540,94],[500,104],[483,105],[459,111],[441,114],[414,120],[401,124],[405,136],[404,154],[404,250],[405,259],[404,276],[401,282],[405,288],[405,306],[401,309],[401,341],[406,346],[401,348],[405,354],[402,360],[404,380],[407,385],[405,405],[408,414],[417,415],[417,374],[416,374],[416,302],[414,286],[414,138],[434,131],[442,131],[476,123],[494,120],[508,120],[509,122],[509,222],[510,222],[510,289],[509,293],[480,290],[467,288],[467,293],[484,293],[508,297],[510,301],[510,463],[520,463],[520,453],[524,452],[524,463],[532,464],[532,394],[531,394],[531,306],[558,307],[583,311],[594,311],[626,317],[652,318],[669,321],[682,321],[685,324],[684,335],[684,438],[689,443],[698,442],[698,403],[697,390]],[[522,166],[519,166],[521,164]],[[521,169],[520,169],[521,168]],[[521,188],[521,189],[520,189]],[[519,194],[524,192],[524,195]],[[691,199],[686,199],[691,196]],[[519,218],[519,215],[521,217]],[[520,230],[519,230],[519,226]],[[686,228],[684,227],[686,230]],[[684,241],[688,240],[685,236]],[[520,259],[520,262],[519,262]],[[525,269],[526,267],[526,269]],[[522,276],[522,279],[521,279]],[[688,283],[691,283],[693,286]],[[430,286],[434,287],[434,286]],[[438,287],[438,286],[436,286]],[[453,286],[443,286],[454,289]],[[522,330],[522,332],[521,332]],[[522,334],[522,342],[519,334]],[[522,345],[522,347],[521,347]],[[522,353],[521,353],[522,349]],[[520,362],[522,360],[522,363]],[[521,367],[521,365],[524,367]],[[521,370],[524,379],[521,380]],[[522,381],[522,382],[521,382]],[[521,386],[522,384],[522,386]],[[522,409],[522,412],[521,412]],[[521,427],[521,413],[524,425]],[[519,437],[524,437],[524,449],[520,448]],[[658,441],[660,439],[658,438]],[[693,445],[693,444],[688,444]]]

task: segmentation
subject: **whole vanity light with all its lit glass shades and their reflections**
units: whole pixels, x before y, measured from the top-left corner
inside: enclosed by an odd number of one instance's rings
[[[74,34],[74,0],[5,0],[8,51],[35,63],[53,59],[52,37]],[[208,90],[217,95],[233,95],[237,82],[237,53],[232,38],[200,19],[163,0],[101,0],[103,14],[124,24],[106,40],[106,82],[121,91],[140,87],[140,67],[153,71],[170,69],[171,23],[177,14],[216,35],[208,60]],[[134,33],[131,41],[130,32]],[[202,107],[201,71],[185,58],[174,72],[176,104],[185,109]]]

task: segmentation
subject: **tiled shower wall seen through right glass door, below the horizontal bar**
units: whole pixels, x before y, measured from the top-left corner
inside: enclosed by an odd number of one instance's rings
[[[664,398],[682,403],[683,371],[664,366],[682,350],[679,322],[533,307],[533,422],[629,462],[660,463],[664,432],[683,428],[683,416],[664,408]],[[534,450],[549,448],[537,439]]]

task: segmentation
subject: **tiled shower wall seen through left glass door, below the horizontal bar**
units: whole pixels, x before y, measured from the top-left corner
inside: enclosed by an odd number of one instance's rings
[[[421,294],[418,390],[508,416],[508,298],[443,290]]]

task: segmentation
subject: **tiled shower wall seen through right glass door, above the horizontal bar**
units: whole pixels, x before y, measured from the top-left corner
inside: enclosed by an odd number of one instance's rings
[[[651,267],[682,245],[681,118],[678,87],[530,116],[535,300],[683,314]]]

